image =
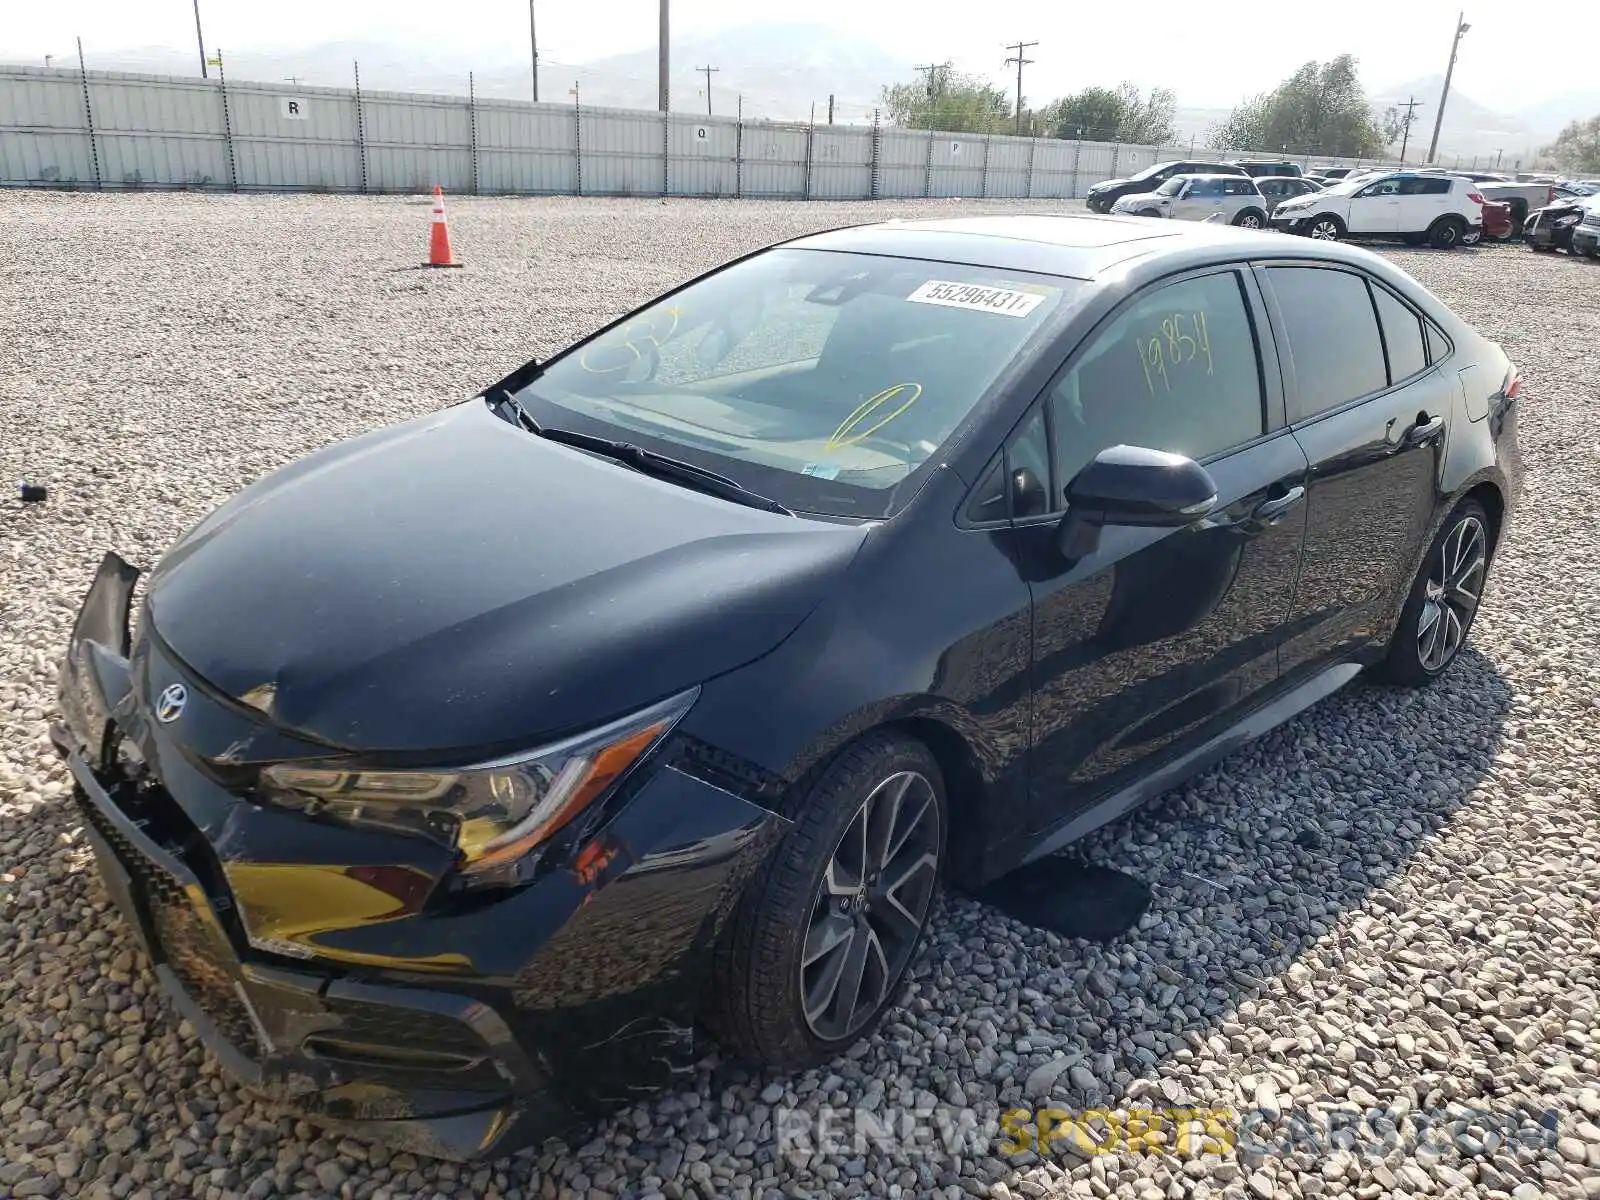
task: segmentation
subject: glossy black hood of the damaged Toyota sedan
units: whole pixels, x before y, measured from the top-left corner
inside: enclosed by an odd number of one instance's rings
[[[152,573],[147,619],[200,680],[301,736],[501,749],[760,658],[864,536],[642,475],[472,402],[242,491]]]

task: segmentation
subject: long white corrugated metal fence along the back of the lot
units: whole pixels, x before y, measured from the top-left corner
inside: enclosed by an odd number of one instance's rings
[[[483,195],[1066,198],[1101,179],[1195,154],[1192,146],[0,66],[6,186],[427,192],[438,184]]]

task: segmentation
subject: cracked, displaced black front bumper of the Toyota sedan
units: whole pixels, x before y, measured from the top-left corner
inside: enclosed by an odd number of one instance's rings
[[[136,579],[102,562],[51,738],[109,894],[235,1078],[339,1130],[480,1158],[691,1069],[712,946],[782,818],[662,747],[531,883],[453,896],[426,842],[254,803],[242,760],[285,734],[152,632],[133,643]]]

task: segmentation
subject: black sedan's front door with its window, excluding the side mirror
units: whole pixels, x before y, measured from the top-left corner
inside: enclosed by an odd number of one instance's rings
[[[1018,522],[1034,595],[1035,830],[1224,728],[1277,682],[1306,456],[1261,370],[1264,328],[1243,270],[1152,285],[1042,402],[1054,502]],[[1056,546],[1066,483],[1118,443],[1205,462],[1218,507],[1181,530],[1106,528],[1070,562]]]

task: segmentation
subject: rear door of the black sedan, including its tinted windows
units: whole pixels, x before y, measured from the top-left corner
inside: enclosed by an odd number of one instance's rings
[[[1354,267],[1256,269],[1285,405],[1310,461],[1306,554],[1280,650],[1286,682],[1389,635],[1437,504],[1454,382],[1443,334]]]

